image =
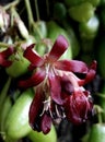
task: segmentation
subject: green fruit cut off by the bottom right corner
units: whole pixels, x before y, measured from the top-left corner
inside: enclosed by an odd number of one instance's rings
[[[88,142],[105,142],[105,123],[92,126]]]

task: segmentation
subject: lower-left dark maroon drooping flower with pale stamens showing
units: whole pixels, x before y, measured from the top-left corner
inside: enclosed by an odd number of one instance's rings
[[[43,90],[43,86],[36,88],[36,94],[31,104],[28,115],[31,127],[46,134],[50,131],[52,121],[60,122],[60,120],[65,118],[65,111],[61,106],[56,104],[50,96],[46,96],[45,93],[49,94],[48,91],[45,92]]]

